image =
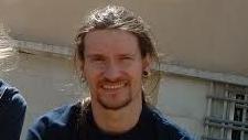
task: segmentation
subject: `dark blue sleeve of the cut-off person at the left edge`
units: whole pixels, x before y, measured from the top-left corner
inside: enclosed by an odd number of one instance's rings
[[[26,103],[19,90],[0,79],[0,139],[19,140]]]

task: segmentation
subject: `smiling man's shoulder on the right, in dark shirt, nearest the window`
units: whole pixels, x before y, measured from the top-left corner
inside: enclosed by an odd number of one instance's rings
[[[168,139],[170,140],[194,140],[188,132],[180,128],[174,123],[168,116],[162,115],[157,108],[149,107],[152,117],[155,121],[155,127],[159,134],[159,140]]]

